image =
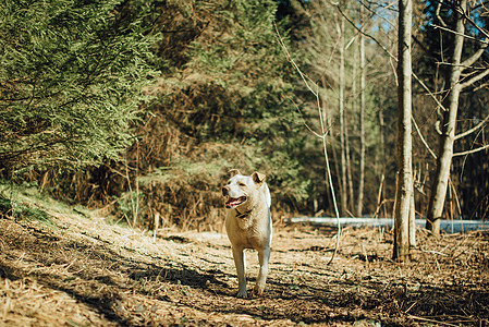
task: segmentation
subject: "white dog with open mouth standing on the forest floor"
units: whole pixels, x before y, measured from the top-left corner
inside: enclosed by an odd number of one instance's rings
[[[246,261],[243,252],[245,249],[254,249],[258,252],[260,270],[254,292],[261,295],[266,289],[272,237],[270,191],[262,173],[254,172],[252,175],[243,175],[236,169],[230,172],[234,175],[222,187],[222,194],[228,196],[225,230],[236,265],[237,298],[247,298]]]

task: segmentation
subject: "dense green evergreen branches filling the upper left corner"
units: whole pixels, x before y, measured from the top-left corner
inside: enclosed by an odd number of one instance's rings
[[[117,157],[152,74],[147,8],[131,1],[0,4],[0,162],[73,168]],[[137,12],[137,15],[134,14]]]

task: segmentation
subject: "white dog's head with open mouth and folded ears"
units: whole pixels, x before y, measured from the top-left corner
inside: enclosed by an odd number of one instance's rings
[[[222,195],[228,196],[225,207],[236,208],[256,196],[265,182],[265,174],[255,171],[252,175],[243,175],[237,169],[230,170],[233,175],[222,187]]]

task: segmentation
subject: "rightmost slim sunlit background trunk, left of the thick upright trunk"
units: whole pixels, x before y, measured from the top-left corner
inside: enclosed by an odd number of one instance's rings
[[[364,5],[360,5],[362,28],[364,27]],[[360,34],[360,157],[358,177],[358,198],[356,216],[362,217],[364,210],[364,182],[365,182],[365,35]]]

